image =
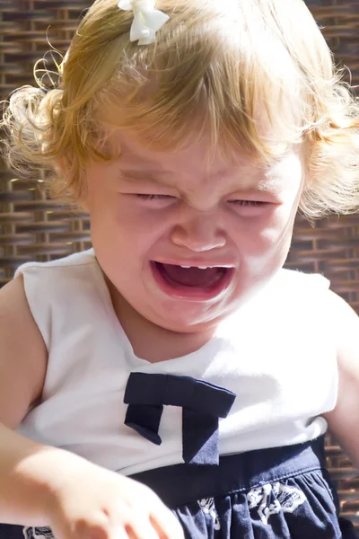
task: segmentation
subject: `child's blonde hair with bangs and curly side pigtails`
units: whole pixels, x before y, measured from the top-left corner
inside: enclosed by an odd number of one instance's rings
[[[302,213],[356,211],[359,104],[304,2],[158,0],[156,7],[170,21],[141,47],[129,40],[133,14],[118,0],[92,4],[58,66],[57,87],[45,89],[37,77],[39,87],[24,86],[6,102],[0,126],[9,166],[22,177],[47,172],[53,197],[80,202],[89,159],[120,155],[108,145],[117,129],[162,149],[206,130],[223,155],[265,162],[304,144]]]

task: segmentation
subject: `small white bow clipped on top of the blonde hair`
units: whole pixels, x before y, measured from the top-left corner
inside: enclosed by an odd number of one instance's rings
[[[119,9],[134,12],[129,39],[138,45],[150,45],[156,37],[156,31],[169,20],[169,16],[154,7],[154,0],[119,0]]]

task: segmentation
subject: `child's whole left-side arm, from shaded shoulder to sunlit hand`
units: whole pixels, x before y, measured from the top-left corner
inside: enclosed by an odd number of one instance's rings
[[[13,432],[41,395],[47,350],[22,278],[0,291],[0,522],[62,539],[183,539],[179,521],[127,477]]]

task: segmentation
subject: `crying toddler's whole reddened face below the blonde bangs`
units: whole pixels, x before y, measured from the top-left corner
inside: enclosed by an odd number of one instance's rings
[[[87,207],[97,258],[120,301],[163,328],[202,331],[283,266],[301,155],[267,169],[215,155],[207,166],[205,142],[159,153],[128,134],[112,141],[122,155],[88,167]]]

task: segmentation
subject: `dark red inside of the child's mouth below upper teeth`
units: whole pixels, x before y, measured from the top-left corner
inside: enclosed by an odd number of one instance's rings
[[[223,278],[223,268],[181,268],[172,264],[158,264],[162,277],[171,285],[182,287],[213,287],[220,278]]]

